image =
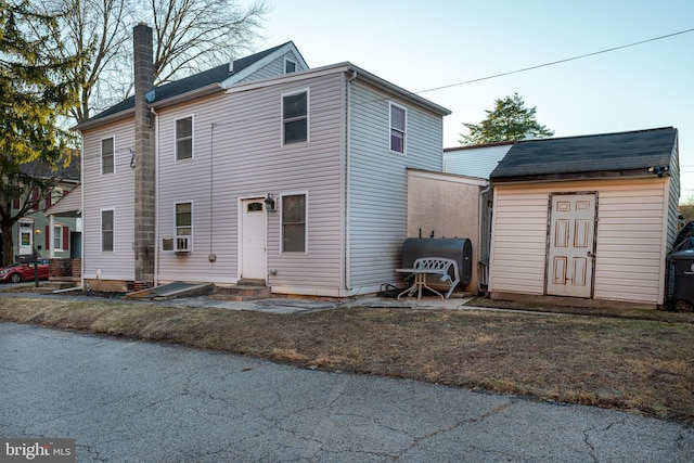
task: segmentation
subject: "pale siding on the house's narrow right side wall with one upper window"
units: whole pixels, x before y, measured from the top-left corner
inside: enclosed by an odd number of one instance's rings
[[[442,121],[408,108],[407,156],[390,151],[390,98],[355,80],[350,89],[348,253],[355,291],[376,292],[374,282],[398,282],[407,237],[407,168],[441,170]],[[312,196],[313,197],[313,196]]]

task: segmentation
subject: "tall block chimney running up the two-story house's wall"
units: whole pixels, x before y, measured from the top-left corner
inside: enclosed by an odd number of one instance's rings
[[[156,172],[154,115],[145,95],[154,88],[152,28],[134,26],[134,285],[154,286]]]

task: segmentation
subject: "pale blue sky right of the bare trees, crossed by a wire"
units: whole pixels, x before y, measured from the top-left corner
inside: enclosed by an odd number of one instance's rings
[[[694,200],[694,30],[673,35],[694,29],[692,0],[266,2],[257,50],[292,40],[310,67],[350,62],[449,108],[445,147],[515,92],[554,137],[674,127]]]

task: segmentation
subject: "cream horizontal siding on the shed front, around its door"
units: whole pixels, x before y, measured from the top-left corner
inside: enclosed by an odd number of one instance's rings
[[[667,179],[573,181],[494,189],[490,291],[542,295],[548,197],[597,192],[594,298],[661,304]]]

